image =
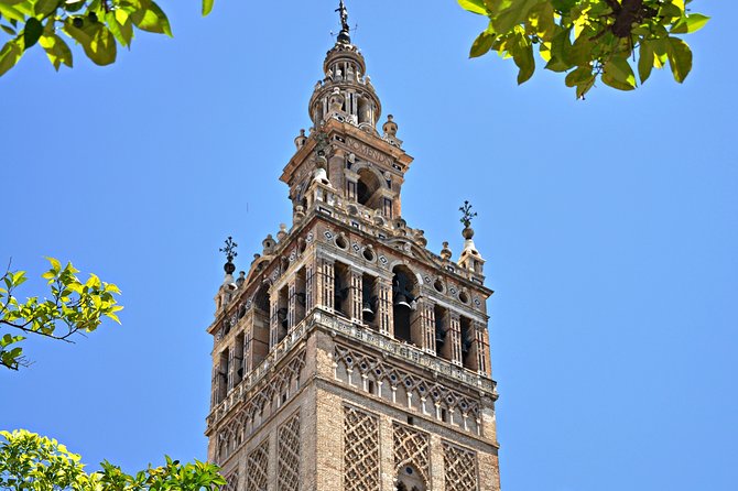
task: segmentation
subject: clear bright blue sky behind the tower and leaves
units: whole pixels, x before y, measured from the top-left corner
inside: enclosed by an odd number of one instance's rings
[[[123,291],[122,327],[28,343],[0,372],[0,427],[129,470],[205,458],[218,247],[245,269],[289,221],[278,182],[308,126],[334,0],[162,1],[107,68],[40,50],[0,78],[0,260],[70,259]],[[439,251],[479,212],[506,491],[728,491],[738,452],[738,159],[731,2],[688,37],[695,67],[586,102],[468,61],[484,20],[453,0],[354,0],[368,72],[415,157],[404,218]],[[39,282],[25,288],[41,291]]]

